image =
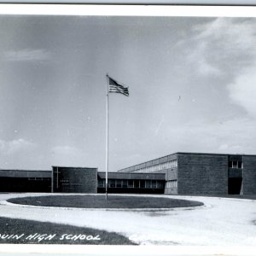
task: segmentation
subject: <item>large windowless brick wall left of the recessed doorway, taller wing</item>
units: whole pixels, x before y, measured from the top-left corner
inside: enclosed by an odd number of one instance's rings
[[[177,193],[228,194],[228,155],[178,154]]]

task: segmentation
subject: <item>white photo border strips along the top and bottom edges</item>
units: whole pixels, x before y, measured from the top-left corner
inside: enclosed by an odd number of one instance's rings
[[[256,17],[256,6],[0,3],[0,15]],[[2,244],[0,255],[254,255],[255,247]]]

